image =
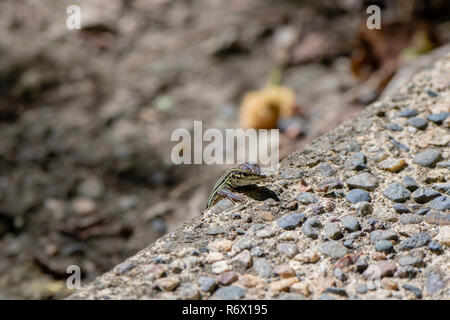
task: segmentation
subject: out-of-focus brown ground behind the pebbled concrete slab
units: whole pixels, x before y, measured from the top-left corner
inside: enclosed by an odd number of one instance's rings
[[[174,129],[279,128],[283,157],[449,41],[446,0],[0,1],[0,298],[64,298],[69,265],[199,215],[224,167],[172,164]]]

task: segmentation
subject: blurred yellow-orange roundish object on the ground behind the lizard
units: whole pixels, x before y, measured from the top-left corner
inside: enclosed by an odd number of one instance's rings
[[[245,129],[275,129],[280,117],[290,117],[294,111],[295,94],[283,86],[268,86],[245,95],[240,122]]]

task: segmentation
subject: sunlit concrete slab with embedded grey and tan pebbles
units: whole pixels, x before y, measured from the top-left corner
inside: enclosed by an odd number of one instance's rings
[[[287,157],[277,200],[220,201],[71,298],[450,298],[449,71]]]

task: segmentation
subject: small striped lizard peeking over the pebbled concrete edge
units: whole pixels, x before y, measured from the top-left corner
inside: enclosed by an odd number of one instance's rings
[[[221,197],[231,201],[244,201],[245,198],[234,193],[233,189],[255,184],[266,178],[265,175],[261,174],[261,168],[257,163],[245,162],[228,169],[212,189],[206,209],[211,208]]]

